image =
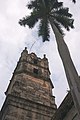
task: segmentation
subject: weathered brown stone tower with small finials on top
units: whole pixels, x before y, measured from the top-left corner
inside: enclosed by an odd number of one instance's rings
[[[56,111],[48,60],[23,50],[6,91],[0,120],[51,120]]]

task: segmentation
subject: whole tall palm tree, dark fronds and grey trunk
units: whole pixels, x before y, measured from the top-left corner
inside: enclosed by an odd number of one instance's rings
[[[19,24],[23,26],[28,25],[29,28],[33,28],[39,21],[38,35],[42,36],[43,42],[49,41],[49,27],[51,25],[55,34],[58,52],[62,59],[71,94],[80,118],[79,77],[71,60],[68,47],[63,39],[64,33],[62,30],[62,26],[68,31],[70,28],[74,28],[72,14],[70,14],[69,9],[64,8],[63,3],[58,2],[58,0],[34,0],[27,6],[29,9],[32,9],[31,15],[21,19]]]

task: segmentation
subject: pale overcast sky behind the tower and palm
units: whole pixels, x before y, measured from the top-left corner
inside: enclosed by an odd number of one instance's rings
[[[30,12],[26,8],[28,1],[30,0],[0,0],[0,108],[5,99],[4,92],[25,46],[29,52],[35,52],[41,58],[46,54],[57,105],[61,103],[69,89],[54,34],[51,33],[50,42],[42,43],[41,38],[37,36],[37,26],[31,30],[18,24],[19,19]],[[80,1],[74,5],[70,0],[64,0],[64,6],[70,8],[75,19],[75,29],[65,31],[64,39],[80,74]]]

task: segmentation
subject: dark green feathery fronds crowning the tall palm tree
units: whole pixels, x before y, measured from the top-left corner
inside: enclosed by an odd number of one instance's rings
[[[29,28],[33,28],[39,21],[38,35],[42,36],[43,42],[49,41],[49,19],[51,18],[53,23],[64,35],[62,26],[66,30],[74,28],[72,14],[69,13],[68,8],[63,7],[62,2],[58,0],[32,0],[28,5],[28,9],[32,9],[29,16],[24,17],[19,21],[20,25],[28,25]]]

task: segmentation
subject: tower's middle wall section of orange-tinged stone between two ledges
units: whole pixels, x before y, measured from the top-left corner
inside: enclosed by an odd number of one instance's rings
[[[23,73],[14,76],[8,94],[48,106],[55,105],[55,97],[52,96],[51,84],[48,81]]]

